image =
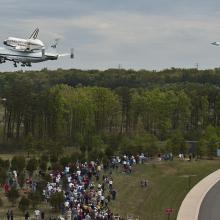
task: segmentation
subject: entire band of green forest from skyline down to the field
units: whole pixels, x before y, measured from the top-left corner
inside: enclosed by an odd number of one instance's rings
[[[2,142],[74,146],[94,154],[132,145],[154,154],[160,151],[156,142],[174,146],[173,140],[185,149],[185,140],[205,143],[214,128],[217,143],[219,83],[220,69],[1,73]]]

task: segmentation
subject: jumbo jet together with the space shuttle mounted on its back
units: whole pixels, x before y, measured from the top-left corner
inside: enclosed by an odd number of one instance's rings
[[[44,43],[37,39],[39,29],[35,29],[28,39],[8,37],[4,40],[4,47],[0,47],[0,64],[6,61],[14,63],[17,67],[21,63],[22,67],[30,67],[32,63],[44,62],[47,60],[57,60],[59,57],[70,56],[74,58],[73,49],[70,53],[59,54],[56,52],[58,39],[55,39],[50,50],[45,49]]]

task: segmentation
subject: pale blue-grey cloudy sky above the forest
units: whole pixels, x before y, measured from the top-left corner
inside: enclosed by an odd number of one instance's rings
[[[32,69],[126,69],[220,66],[217,0],[0,0],[0,41],[28,37],[35,27],[75,59],[33,64]],[[13,70],[2,64],[0,71]]]

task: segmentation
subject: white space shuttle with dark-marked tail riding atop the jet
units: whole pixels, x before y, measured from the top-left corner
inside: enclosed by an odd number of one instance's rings
[[[37,39],[38,33],[39,28],[36,28],[28,39],[8,37],[3,43],[11,50],[15,51],[33,52],[42,50],[45,46],[41,40]]]

